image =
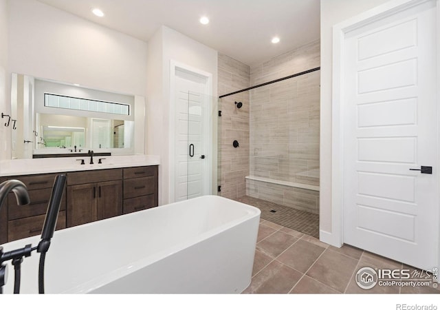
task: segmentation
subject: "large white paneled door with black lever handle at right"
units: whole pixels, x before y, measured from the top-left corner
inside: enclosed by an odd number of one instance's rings
[[[342,61],[344,243],[423,269],[439,253],[435,5],[346,33]]]

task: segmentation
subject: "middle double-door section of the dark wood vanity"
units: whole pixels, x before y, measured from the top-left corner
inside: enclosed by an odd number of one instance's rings
[[[122,214],[122,169],[67,173],[67,227]]]

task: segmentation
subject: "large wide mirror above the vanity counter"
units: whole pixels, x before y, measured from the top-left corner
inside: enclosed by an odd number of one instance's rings
[[[142,96],[12,74],[11,114],[13,159],[144,151]]]

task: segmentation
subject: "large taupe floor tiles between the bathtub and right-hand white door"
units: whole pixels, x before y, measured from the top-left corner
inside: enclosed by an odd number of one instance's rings
[[[407,268],[406,265],[344,245],[332,247],[300,231],[261,219],[252,282],[243,293],[440,293],[432,287],[360,289],[361,267]]]

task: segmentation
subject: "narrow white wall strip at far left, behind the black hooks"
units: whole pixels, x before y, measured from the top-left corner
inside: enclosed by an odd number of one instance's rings
[[[7,96],[7,70],[8,70],[8,1],[0,0],[0,114],[11,112]],[[0,160],[10,158],[10,128],[5,127],[0,118]]]

